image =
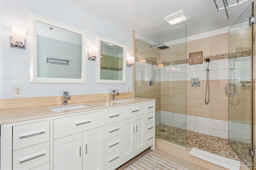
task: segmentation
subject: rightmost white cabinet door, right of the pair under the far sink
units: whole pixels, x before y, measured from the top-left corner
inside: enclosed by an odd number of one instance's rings
[[[134,152],[144,147],[145,144],[145,116],[134,117]]]

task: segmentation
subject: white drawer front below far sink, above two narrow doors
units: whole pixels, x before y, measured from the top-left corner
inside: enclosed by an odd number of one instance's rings
[[[145,104],[122,107],[122,120],[145,114]]]

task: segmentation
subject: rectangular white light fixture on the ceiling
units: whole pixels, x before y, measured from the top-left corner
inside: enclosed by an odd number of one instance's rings
[[[183,11],[176,12],[164,18],[164,20],[170,25],[177,25],[185,21],[190,20],[189,16]]]

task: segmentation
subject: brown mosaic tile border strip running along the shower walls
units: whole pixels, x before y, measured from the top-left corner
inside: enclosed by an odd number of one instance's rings
[[[198,53],[198,52],[196,52],[196,53]],[[226,54],[219,54],[219,55],[210,55],[210,56],[203,57],[203,61],[205,61],[205,59],[210,59],[211,61],[213,61],[213,60],[223,60],[223,59],[228,59],[228,58],[234,59],[234,58],[240,58],[240,57],[247,57],[247,56],[250,56],[251,54],[252,54],[251,50],[248,50],[248,51],[239,51],[239,52],[230,53],[230,54],[226,53]],[[159,63],[159,62],[151,61],[151,60],[148,60],[148,59],[142,59],[140,57],[135,57],[135,61],[140,62],[140,63],[156,65],[156,66],[170,66],[170,65],[189,63],[189,59]],[[196,63],[195,62],[194,64],[202,64],[202,63]],[[194,65],[194,64],[192,64],[192,65]]]

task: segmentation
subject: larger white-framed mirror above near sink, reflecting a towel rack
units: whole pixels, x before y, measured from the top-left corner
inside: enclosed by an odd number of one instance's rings
[[[30,14],[30,82],[86,83],[86,33]]]

